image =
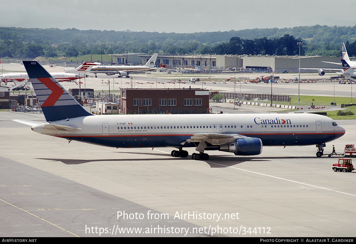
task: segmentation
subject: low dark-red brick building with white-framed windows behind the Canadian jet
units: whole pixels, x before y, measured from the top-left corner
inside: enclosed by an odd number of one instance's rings
[[[204,89],[121,89],[121,113],[208,113]]]

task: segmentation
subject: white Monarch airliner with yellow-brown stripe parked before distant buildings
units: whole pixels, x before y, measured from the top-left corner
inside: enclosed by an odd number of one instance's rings
[[[136,65],[136,66],[130,66],[130,65],[98,65],[94,66],[90,72],[95,74],[97,73],[105,73],[106,75],[115,75],[119,74],[119,77],[126,76],[126,78],[129,78],[129,73],[135,73],[138,71],[150,71],[150,70],[155,70],[155,63],[157,59],[157,53],[153,54],[152,57],[147,61],[147,63],[143,66]]]

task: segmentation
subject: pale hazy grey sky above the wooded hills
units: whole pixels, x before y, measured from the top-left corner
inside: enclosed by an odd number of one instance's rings
[[[2,27],[193,33],[313,25],[356,25],[355,0],[0,2]]]

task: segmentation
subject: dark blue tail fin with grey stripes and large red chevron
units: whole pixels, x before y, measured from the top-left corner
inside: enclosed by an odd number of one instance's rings
[[[46,121],[92,115],[70,95],[37,61],[22,61]]]

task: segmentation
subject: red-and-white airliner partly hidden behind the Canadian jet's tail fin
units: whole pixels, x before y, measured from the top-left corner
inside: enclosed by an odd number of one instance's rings
[[[88,72],[92,67],[98,65],[100,63],[94,62],[84,62],[82,65],[79,65],[75,69],[64,69],[64,72],[51,72],[50,74],[57,81],[74,81],[84,76],[80,76],[79,74],[71,74],[71,73],[84,73]],[[68,73],[69,72],[69,73]],[[1,81],[9,82],[9,81],[30,81],[27,73],[7,73],[0,75]],[[75,81],[74,81],[75,82]]]

